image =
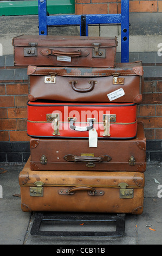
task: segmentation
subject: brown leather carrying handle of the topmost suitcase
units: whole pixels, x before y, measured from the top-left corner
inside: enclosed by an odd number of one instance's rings
[[[40,53],[43,56],[54,55],[54,56],[81,57],[81,55],[82,55],[81,51],[62,52],[62,51],[51,50],[49,48],[43,49],[42,51],[40,51]]]

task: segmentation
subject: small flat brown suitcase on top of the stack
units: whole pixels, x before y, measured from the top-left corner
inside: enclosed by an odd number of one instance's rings
[[[116,37],[20,35],[12,39],[17,66],[115,66]]]

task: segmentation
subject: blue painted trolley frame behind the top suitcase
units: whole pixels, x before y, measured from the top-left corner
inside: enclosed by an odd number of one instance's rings
[[[83,18],[84,17],[84,18]],[[129,0],[121,0],[121,14],[92,14],[92,15],[47,15],[47,1],[38,0],[39,34],[47,35],[48,26],[79,25],[82,35],[82,22],[93,24],[121,24],[121,62],[129,62]]]

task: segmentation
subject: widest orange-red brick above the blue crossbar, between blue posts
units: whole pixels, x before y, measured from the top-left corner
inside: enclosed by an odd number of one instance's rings
[[[107,4],[82,4],[83,13],[82,14],[107,14],[108,5]]]

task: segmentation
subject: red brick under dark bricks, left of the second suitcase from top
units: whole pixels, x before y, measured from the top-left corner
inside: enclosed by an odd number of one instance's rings
[[[28,84],[7,84],[6,92],[8,95],[28,94]]]

